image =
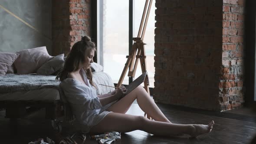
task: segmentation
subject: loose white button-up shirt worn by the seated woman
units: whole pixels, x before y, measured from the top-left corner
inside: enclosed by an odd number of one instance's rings
[[[89,129],[98,124],[110,111],[103,111],[98,115],[102,105],[96,90],[89,83],[85,71],[81,69],[80,73],[85,84],[79,80],[67,78],[60,83],[60,87],[69,101],[76,122],[85,126],[83,131],[89,132]]]

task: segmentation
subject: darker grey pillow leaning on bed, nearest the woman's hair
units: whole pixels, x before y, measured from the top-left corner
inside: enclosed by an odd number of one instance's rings
[[[37,71],[37,75],[52,75],[53,73],[63,69],[64,65],[64,53],[53,57],[48,62],[43,64]]]

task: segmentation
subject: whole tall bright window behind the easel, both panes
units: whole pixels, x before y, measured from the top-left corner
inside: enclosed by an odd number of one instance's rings
[[[154,87],[154,11],[155,0],[151,6],[144,43],[147,56],[147,70],[150,87]],[[133,37],[137,37],[145,0],[134,0]],[[129,0],[98,0],[98,63],[104,66],[114,83],[118,83],[129,54]],[[125,75],[123,84],[128,85]],[[141,75],[138,65],[135,78]]]

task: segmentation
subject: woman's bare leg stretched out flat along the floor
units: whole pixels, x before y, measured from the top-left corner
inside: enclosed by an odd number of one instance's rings
[[[151,121],[143,116],[127,115],[120,113],[109,113],[97,125],[90,130],[91,134],[103,133],[106,131],[129,132],[134,130],[146,131],[150,134],[161,136],[176,136],[189,134],[196,137],[200,134],[209,133],[214,122],[208,125],[203,124],[172,124],[161,121]]]

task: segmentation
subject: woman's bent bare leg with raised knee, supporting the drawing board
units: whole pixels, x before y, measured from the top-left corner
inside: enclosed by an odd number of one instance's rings
[[[162,111],[155,104],[154,100],[148,95],[148,92],[140,85],[135,90],[130,92],[120,101],[116,102],[108,111],[125,114],[130,108],[132,102],[137,98],[139,107],[150,115],[155,121],[169,122],[171,123],[162,113]]]

